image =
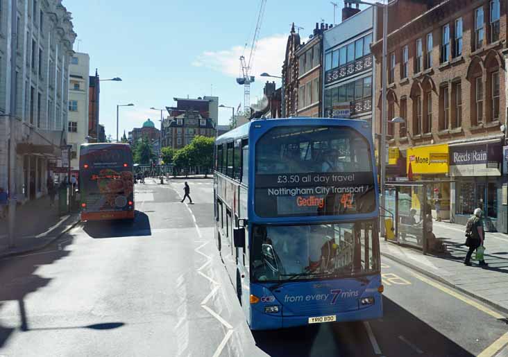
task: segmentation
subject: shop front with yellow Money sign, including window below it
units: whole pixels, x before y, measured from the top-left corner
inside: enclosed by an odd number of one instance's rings
[[[431,202],[432,218],[450,219],[448,144],[408,148],[406,165],[409,181],[427,182],[425,196]],[[430,181],[434,183],[428,184]]]

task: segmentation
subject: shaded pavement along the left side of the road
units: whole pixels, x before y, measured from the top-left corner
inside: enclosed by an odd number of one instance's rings
[[[8,246],[8,222],[0,220],[0,259],[40,250],[79,221],[79,214],[59,216],[58,206],[44,196],[16,207],[15,242]]]

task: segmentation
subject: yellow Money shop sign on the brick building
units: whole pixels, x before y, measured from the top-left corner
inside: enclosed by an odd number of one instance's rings
[[[407,149],[407,172],[414,174],[448,173],[448,144]]]

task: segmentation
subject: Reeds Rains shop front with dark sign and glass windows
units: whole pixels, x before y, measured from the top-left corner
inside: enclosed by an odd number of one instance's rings
[[[484,212],[486,229],[496,232],[503,225],[499,216],[502,195],[501,138],[450,143],[452,222],[465,225],[476,208]],[[501,218],[501,219],[500,219]]]

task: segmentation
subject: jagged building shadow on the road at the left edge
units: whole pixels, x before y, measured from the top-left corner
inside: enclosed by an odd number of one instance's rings
[[[65,250],[67,245],[74,241],[73,238],[58,243],[58,250],[55,247],[48,247],[41,252],[27,256],[13,256],[0,261],[0,315],[6,308],[6,302],[16,301],[19,311],[20,331],[30,330],[29,311],[26,311],[26,295],[35,293],[40,288],[47,286],[51,279],[40,277],[36,274],[41,265],[52,264],[59,259],[68,256],[71,252]],[[0,348],[5,345],[12,332],[16,328],[2,326],[0,320]]]

